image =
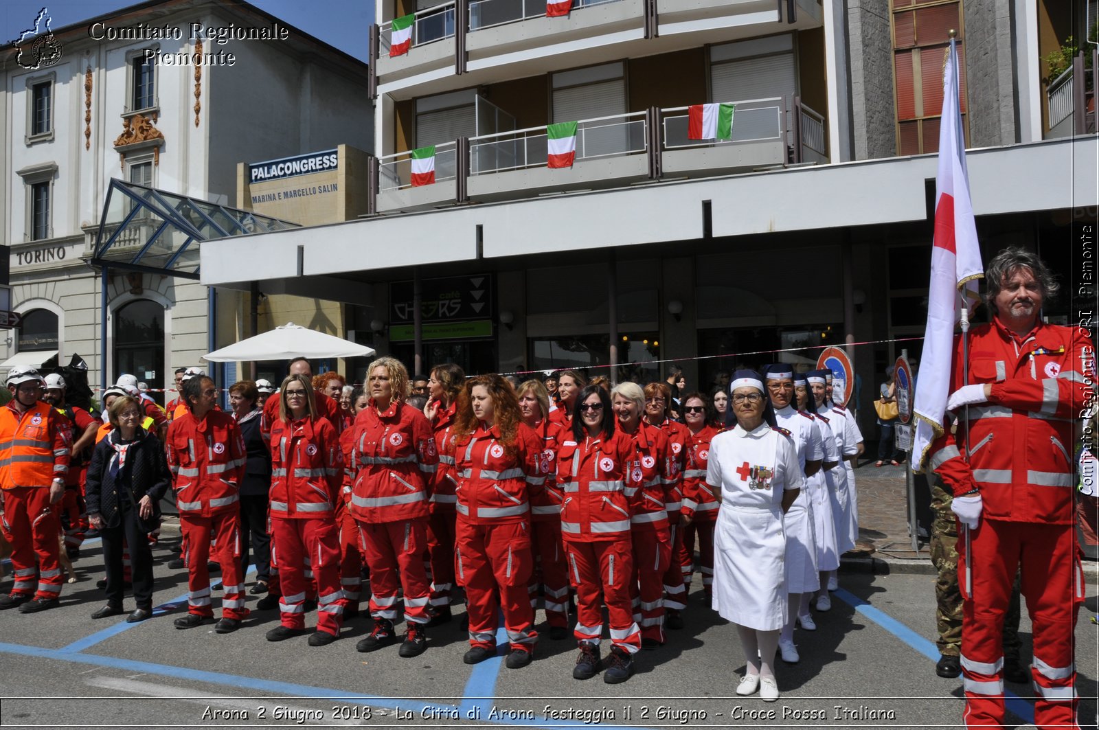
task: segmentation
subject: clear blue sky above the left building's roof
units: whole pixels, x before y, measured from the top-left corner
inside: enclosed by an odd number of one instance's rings
[[[367,60],[367,33],[374,21],[374,0],[249,0],[271,15]],[[64,27],[89,18],[140,4],[129,0],[0,0],[0,42],[14,41],[34,25],[43,5],[53,27]]]

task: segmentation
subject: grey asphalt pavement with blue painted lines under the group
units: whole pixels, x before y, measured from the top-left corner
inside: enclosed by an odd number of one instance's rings
[[[452,623],[429,632],[429,649],[406,660],[397,646],[360,654],[355,643],[368,620],[344,627],[331,645],[307,637],[264,639],[278,612],[253,611],[232,634],[212,626],[177,630],[186,610],[187,575],[166,563],[178,543],[162,542],[156,558],[157,615],[143,623],[124,616],[92,621],[102,605],[98,541],[77,562],[79,582],[65,585],[62,606],[35,615],[0,612],[0,727],[958,727],[961,681],[934,674],[933,577],[923,574],[841,575],[832,609],[815,615],[817,631],[798,629],[796,665],[778,662],[781,698],[740,698],[744,670],[735,631],[701,600],[696,580],[687,627],[667,643],[636,655],[636,674],[608,685],[571,678],[576,645],[544,631],[534,662],[521,670],[500,656],[467,666],[468,648]],[[857,565],[856,565],[857,568]],[[10,577],[8,578],[10,580]],[[251,584],[251,576],[249,576]],[[7,585],[0,585],[5,589]],[[1076,629],[1080,717],[1096,717],[1097,635],[1091,623],[1096,586]],[[214,591],[214,605],[220,593]],[[256,596],[248,596],[254,607]],[[132,608],[127,597],[126,608]],[[315,613],[307,615],[312,626]],[[537,613],[544,630],[543,613]],[[501,632],[502,634],[502,632]],[[1030,623],[1021,627],[1025,655]],[[604,644],[603,653],[608,651]],[[1008,685],[1009,723],[1033,722],[1033,693]],[[1009,726],[1010,727],[1010,726]]]

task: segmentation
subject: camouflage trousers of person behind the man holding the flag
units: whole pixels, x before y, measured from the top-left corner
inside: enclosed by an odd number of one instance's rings
[[[962,653],[962,588],[958,585],[958,530],[951,511],[954,497],[937,476],[932,478],[931,562],[935,579],[935,623],[939,629],[939,653],[958,656]],[[1019,573],[1011,588],[1008,613],[1003,617],[1003,655],[1019,657]]]

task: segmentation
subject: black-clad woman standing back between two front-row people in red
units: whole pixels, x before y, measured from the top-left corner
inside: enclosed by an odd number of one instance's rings
[[[252,594],[267,593],[271,569],[271,539],[267,533],[267,502],[271,488],[271,452],[259,433],[259,390],[252,380],[241,380],[229,386],[229,405],[233,419],[241,429],[247,467],[241,482],[241,566],[242,575],[248,569],[248,546],[256,558],[256,585]]]

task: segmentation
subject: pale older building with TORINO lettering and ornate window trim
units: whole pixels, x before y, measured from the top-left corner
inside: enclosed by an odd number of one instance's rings
[[[115,196],[104,210],[111,179],[235,206],[242,158],[370,144],[366,66],[235,0],[155,0],[63,29],[27,21],[37,33],[0,46],[2,240],[23,316],[0,341],[0,369],[79,354],[93,384],[133,373],[164,388],[201,364],[211,332],[219,345],[236,336],[235,301],[219,313],[173,266],[89,265],[101,222],[138,208]],[[160,235],[163,221],[134,214],[137,237],[115,252]],[[193,273],[193,250],[173,261],[188,256]]]

